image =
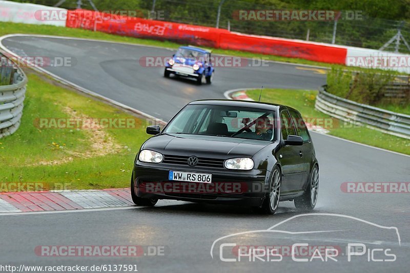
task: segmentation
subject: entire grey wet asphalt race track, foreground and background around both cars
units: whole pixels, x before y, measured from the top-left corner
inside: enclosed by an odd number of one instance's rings
[[[73,67],[46,67],[51,73],[95,93],[124,103],[149,115],[169,120],[186,103],[196,99],[223,99],[229,89],[241,87],[279,87],[316,89],[325,75],[306,67],[270,62],[259,67],[217,67],[212,85],[198,86],[189,80],[166,79],[162,67],[143,67],[138,60],[146,56],[171,56],[166,49],[86,40],[18,36],[6,38],[3,45],[20,56],[71,56]],[[302,69],[301,69],[302,68]],[[267,230],[303,212],[292,202],[279,204],[274,216],[255,215],[247,208],[214,206],[178,201],[159,201],[155,208],[95,210],[46,214],[2,214],[2,262],[25,265],[102,265],[137,264],[138,271],[407,271],[410,255],[409,193],[343,193],[343,182],[410,182],[410,157],[358,145],[326,135],[313,134],[320,164],[319,199],[314,213],[283,223],[283,231],[327,233],[256,233],[231,237],[223,243],[238,245],[333,245],[366,243],[366,253],[348,261],[315,259],[282,261],[222,262],[218,241],[233,233]],[[337,215],[348,215],[358,219]],[[384,227],[397,227],[396,232]],[[153,257],[38,257],[38,245],[151,245],[165,246],[165,256]],[[372,249],[390,248],[394,262],[377,262]],[[369,255],[369,256],[367,256]],[[228,257],[229,254],[224,254]],[[310,258],[310,256],[308,257]],[[375,257],[379,258],[379,257]],[[388,257],[390,258],[390,257]],[[386,257],[384,256],[384,259]]]

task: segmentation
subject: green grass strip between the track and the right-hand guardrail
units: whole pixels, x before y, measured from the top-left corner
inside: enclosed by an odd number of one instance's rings
[[[249,90],[247,92],[248,96],[254,100],[258,100],[259,93],[260,90]],[[316,90],[263,89],[261,101],[288,105],[298,109],[304,119],[312,120],[318,118],[322,120],[323,118],[331,118],[315,109],[317,93]],[[312,123],[315,124],[315,122]],[[333,127],[335,128],[326,127],[326,129],[330,131],[329,134],[334,135],[335,137],[404,154],[410,154],[410,141],[406,139],[398,138],[394,135],[389,135],[366,127]]]

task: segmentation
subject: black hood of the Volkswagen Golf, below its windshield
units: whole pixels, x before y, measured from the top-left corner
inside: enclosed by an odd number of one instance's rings
[[[196,155],[198,157],[232,158],[252,157],[269,141],[247,140],[210,135],[160,134],[149,139],[142,149],[150,149],[168,155]]]

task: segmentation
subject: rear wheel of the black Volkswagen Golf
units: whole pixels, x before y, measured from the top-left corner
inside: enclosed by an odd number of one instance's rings
[[[303,195],[295,198],[295,207],[301,210],[311,211],[315,208],[319,193],[319,167],[315,165],[309,179],[309,186]]]

